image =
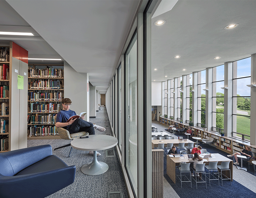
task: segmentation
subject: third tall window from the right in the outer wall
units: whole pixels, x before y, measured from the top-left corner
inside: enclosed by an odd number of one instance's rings
[[[205,70],[198,72],[198,126],[205,124],[205,72]]]

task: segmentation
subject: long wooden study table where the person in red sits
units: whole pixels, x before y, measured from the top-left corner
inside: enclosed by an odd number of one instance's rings
[[[171,178],[174,184],[176,184],[176,166],[180,165],[181,161],[184,161],[186,163],[189,163],[188,155],[184,155],[184,157],[174,157],[171,158],[167,155],[167,161],[166,161],[166,172],[167,175]],[[229,168],[231,173],[231,181],[233,181],[233,160],[224,157],[223,155],[220,155],[218,153],[213,153],[212,157],[204,159],[204,163],[206,165],[209,164],[210,161],[218,161],[218,164],[221,164],[222,161],[230,161]],[[225,175],[229,177],[229,171],[222,171]]]

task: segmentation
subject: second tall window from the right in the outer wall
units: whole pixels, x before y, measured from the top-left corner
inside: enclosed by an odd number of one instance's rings
[[[224,131],[224,65],[212,68],[212,130]]]

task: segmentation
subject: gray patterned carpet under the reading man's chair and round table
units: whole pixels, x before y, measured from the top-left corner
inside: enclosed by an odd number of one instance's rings
[[[106,107],[101,107],[102,110],[97,112],[96,118],[90,119],[90,122],[105,127],[109,126]],[[95,134],[112,134],[110,127],[106,128],[105,132],[95,130]],[[50,144],[52,148],[69,144],[70,140],[63,139],[44,139],[44,140],[28,140],[28,147]],[[73,184],[55,192],[47,198],[104,198],[107,197],[107,192],[123,193],[125,198],[128,198],[128,193],[125,186],[124,177],[122,175],[121,166],[118,161],[116,148],[113,150],[115,156],[106,156],[106,150],[100,150],[101,156],[98,156],[99,161],[103,161],[109,165],[109,169],[101,175],[85,175],[81,172],[81,167],[85,163],[92,161],[93,156],[89,155],[88,151],[72,149],[71,156],[68,157],[70,146],[53,150],[53,154],[60,157],[67,165],[75,165],[75,181]],[[54,184],[49,184],[54,185]]]

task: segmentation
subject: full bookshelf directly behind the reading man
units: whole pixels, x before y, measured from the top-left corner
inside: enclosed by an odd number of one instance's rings
[[[59,138],[54,116],[61,110],[64,97],[64,65],[28,66],[28,139]]]

